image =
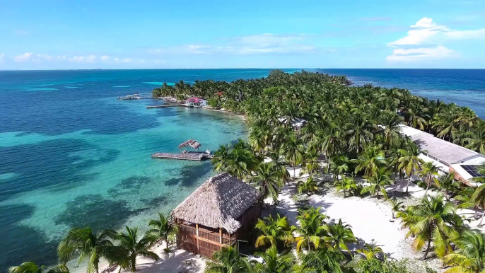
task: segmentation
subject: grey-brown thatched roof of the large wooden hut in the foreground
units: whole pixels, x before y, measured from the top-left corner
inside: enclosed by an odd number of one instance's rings
[[[192,192],[173,210],[173,216],[233,233],[241,226],[236,219],[258,198],[259,192],[254,187],[228,173],[221,173]]]

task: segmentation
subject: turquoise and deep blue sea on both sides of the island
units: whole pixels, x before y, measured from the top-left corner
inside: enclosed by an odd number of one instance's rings
[[[299,69],[286,69],[298,71]],[[315,69],[308,69],[315,71]],[[356,84],[408,88],[467,105],[485,117],[485,70],[321,69]],[[146,229],[212,175],[209,162],[163,161],[187,139],[201,149],[247,137],[238,117],[209,110],[146,109],[164,81],[233,81],[269,69],[0,71],[0,272],[32,260],[56,262],[73,226]],[[73,269],[73,271],[76,271]]]

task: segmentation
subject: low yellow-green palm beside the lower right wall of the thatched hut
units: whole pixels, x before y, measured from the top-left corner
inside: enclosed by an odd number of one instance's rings
[[[277,214],[276,218],[270,215],[269,217],[264,217],[264,220],[258,219],[255,227],[262,233],[256,239],[257,248],[265,245],[276,247],[277,241],[288,244],[294,240],[291,235],[291,226],[286,216],[281,217]]]

